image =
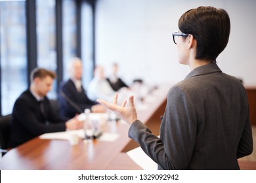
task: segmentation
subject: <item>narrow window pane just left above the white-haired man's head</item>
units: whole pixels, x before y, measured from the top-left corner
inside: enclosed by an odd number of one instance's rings
[[[63,78],[68,78],[66,66],[77,55],[77,20],[74,0],[64,0],[62,5],[63,21]]]

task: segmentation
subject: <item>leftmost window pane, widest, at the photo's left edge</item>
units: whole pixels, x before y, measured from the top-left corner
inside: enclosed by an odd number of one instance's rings
[[[1,114],[11,114],[27,85],[26,2],[0,1]]]

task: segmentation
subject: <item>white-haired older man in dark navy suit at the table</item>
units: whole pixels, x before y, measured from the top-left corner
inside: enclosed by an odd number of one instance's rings
[[[72,58],[68,65],[70,78],[60,84],[60,114],[67,118],[73,118],[85,108],[90,108],[91,112],[105,112],[105,107],[87,97],[81,84],[82,71],[81,59]]]

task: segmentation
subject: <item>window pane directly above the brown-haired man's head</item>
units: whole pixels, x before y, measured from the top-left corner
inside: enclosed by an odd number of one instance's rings
[[[37,66],[56,71],[56,16],[54,0],[36,1]],[[57,83],[48,97],[56,99]]]

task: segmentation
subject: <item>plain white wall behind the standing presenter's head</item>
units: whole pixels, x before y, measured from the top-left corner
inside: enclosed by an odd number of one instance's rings
[[[217,58],[224,73],[256,85],[256,1],[98,0],[96,4],[96,64],[119,63],[119,75],[131,83],[182,80],[190,69],[180,65],[171,33],[180,16],[190,8],[213,6],[230,15],[230,41]]]

